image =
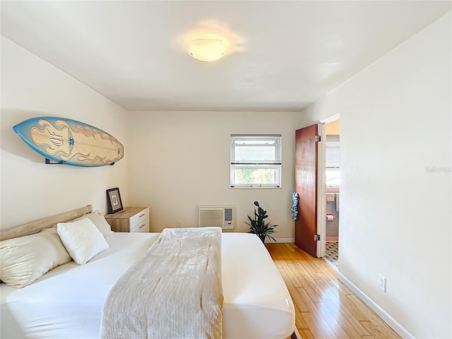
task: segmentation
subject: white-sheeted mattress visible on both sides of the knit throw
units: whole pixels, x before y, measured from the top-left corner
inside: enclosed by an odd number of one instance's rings
[[[0,286],[0,336],[99,338],[102,307],[118,278],[158,233],[114,233],[84,266],[71,261],[22,289]],[[287,287],[254,234],[222,234],[223,338],[282,339],[295,328]]]

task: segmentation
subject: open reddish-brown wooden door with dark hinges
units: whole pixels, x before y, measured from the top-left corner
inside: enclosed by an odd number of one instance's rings
[[[317,257],[317,125],[295,131],[295,191],[299,196],[295,244]]]

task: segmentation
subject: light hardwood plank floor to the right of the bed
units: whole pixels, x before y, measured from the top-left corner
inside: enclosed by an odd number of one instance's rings
[[[400,339],[374,311],[338,280],[323,259],[295,244],[266,244],[295,304],[303,339]]]

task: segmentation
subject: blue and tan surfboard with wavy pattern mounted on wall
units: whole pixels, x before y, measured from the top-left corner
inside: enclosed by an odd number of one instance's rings
[[[97,167],[114,165],[124,157],[117,138],[81,121],[36,117],[13,130],[32,150],[59,164]]]

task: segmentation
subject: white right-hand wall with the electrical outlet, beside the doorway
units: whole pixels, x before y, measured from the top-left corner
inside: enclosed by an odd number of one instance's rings
[[[452,338],[451,41],[448,13],[297,123],[340,113],[340,274],[415,338]]]

